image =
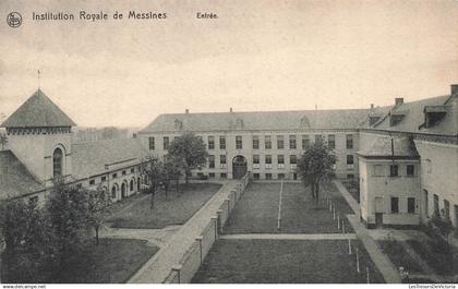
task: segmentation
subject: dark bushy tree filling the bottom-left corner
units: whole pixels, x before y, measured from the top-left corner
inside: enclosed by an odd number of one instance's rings
[[[35,202],[11,200],[2,204],[3,282],[49,282],[52,274],[49,221]]]

